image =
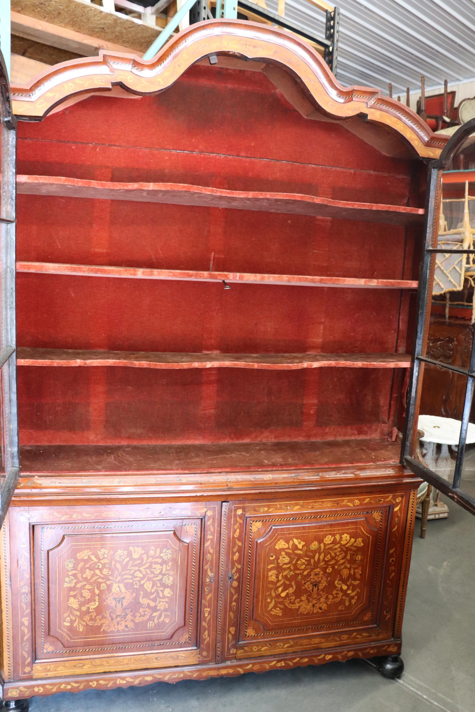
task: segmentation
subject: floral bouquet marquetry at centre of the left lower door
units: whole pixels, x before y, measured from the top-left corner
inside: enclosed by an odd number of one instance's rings
[[[117,633],[143,621],[149,630],[169,623],[178,563],[167,546],[78,551],[65,562],[63,587],[69,591],[63,625]]]

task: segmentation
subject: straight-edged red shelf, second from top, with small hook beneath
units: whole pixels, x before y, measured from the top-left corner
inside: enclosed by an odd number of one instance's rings
[[[360,279],[353,277],[315,277],[288,274],[251,274],[243,272],[198,272],[191,270],[73,265],[56,262],[17,262],[17,272],[78,275],[86,277],[120,277],[128,279],[162,279],[185,282],[222,282],[273,284],[296,287],[362,287],[380,289],[417,289],[417,281],[402,279]]]

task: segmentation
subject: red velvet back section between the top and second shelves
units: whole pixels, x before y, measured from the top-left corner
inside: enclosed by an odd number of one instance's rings
[[[404,234],[305,215],[19,195],[17,259],[401,279]]]

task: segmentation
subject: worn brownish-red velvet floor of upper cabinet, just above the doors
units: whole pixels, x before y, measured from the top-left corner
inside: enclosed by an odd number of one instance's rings
[[[21,447],[21,474],[202,473],[396,464],[400,443],[323,440],[182,445]]]

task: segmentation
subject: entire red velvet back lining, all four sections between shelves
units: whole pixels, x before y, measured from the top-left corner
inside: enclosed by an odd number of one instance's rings
[[[197,67],[166,93],[96,97],[20,122],[18,170],[419,206],[412,161],[306,120],[259,73]],[[413,187],[412,187],[413,186]],[[415,229],[219,208],[19,196],[18,259],[414,278]],[[20,346],[185,352],[405,352],[397,290],[19,274]],[[382,437],[392,370],[19,367],[22,444]]]

